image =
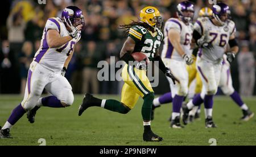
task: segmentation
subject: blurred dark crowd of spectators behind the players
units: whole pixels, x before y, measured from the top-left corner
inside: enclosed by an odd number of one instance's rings
[[[98,81],[97,63],[119,58],[125,37],[118,26],[137,20],[143,6],[156,6],[163,19],[176,16],[176,5],[180,0],[46,0],[39,5],[38,0],[1,1],[0,21],[0,93],[22,94],[26,85],[29,64],[40,46],[44,24],[48,18],[60,16],[64,7],[75,5],[83,10],[86,29],[76,45],[75,54],[69,64],[66,77],[71,82],[73,92],[83,94],[119,94],[122,82]],[[194,0],[196,13],[208,0]],[[233,85],[242,96],[256,94],[256,1],[226,0],[236,23],[240,53],[232,63]],[[117,61],[117,60],[116,60]],[[168,92],[169,85],[162,73],[155,93]],[[168,88],[166,88],[168,87]],[[221,94],[221,93],[218,93]]]

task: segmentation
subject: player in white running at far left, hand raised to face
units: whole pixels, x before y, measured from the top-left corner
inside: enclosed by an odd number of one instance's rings
[[[60,18],[49,18],[44,27],[41,46],[35,53],[28,70],[23,101],[13,110],[0,130],[0,138],[11,138],[10,128],[28,111],[28,120],[33,123],[40,106],[64,108],[73,104],[71,85],[61,71],[67,69],[75,44],[81,37],[84,16],[76,6],[68,6]],[[52,96],[40,98],[43,89]]]

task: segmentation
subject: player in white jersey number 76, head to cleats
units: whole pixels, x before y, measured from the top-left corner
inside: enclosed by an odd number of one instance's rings
[[[212,7],[213,17],[197,20],[194,25],[193,39],[201,47],[197,54],[196,67],[203,81],[203,89],[192,101],[183,106],[183,122],[188,122],[188,112],[193,106],[204,102],[205,126],[216,127],[212,119],[213,96],[217,92],[221,75],[221,62],[226,46],[229,44],[229,52],[226,52],[229,62],[234,60],[238,52],[235,39],[236,27],[229,19],[229,6],[219,2]]]

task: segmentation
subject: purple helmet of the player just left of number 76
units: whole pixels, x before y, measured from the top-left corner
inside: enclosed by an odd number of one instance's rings
[[[179,16],[179,18],[183,20],[183,22],[191,22],[193,19],[193,14],[191,16],[187,16],[184,15],[184,11],[192,11],[194,13],[195,10],[193,3],[189,1],[183,1],[177,5],[177,15]]]

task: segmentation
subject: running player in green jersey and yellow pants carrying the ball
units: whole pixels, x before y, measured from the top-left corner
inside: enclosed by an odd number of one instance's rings
[[[158,48],[163,40],[162,26],[162,17],[158,9],[152,6],[144,7],[141,10],[138,22],[121,26],[121,28],[126,28],[126,35],[128,36],[120,52],[121,59],[126,62],[122,69],[122,79],[125,84],[122,88],[121,102],[117,100],[101,100],[86,93],[79,108],[79,115],[90,106],[100,106],[101,108],[126,114],[134,108],[138,98],[142,97],[144,100],[142,105],[143,140],[163,140],[162,137],[154,134],[150,127],[154,90],[146,75],[147,63],[146,61],[135,61],[131,55],[133,52],[142,52],[149,60],[158,61],[159,69],[175,83],[176,78],[172,75],[170,69],[166,68],[158,53]],[[133,63],[133,65],[130,63]]]

